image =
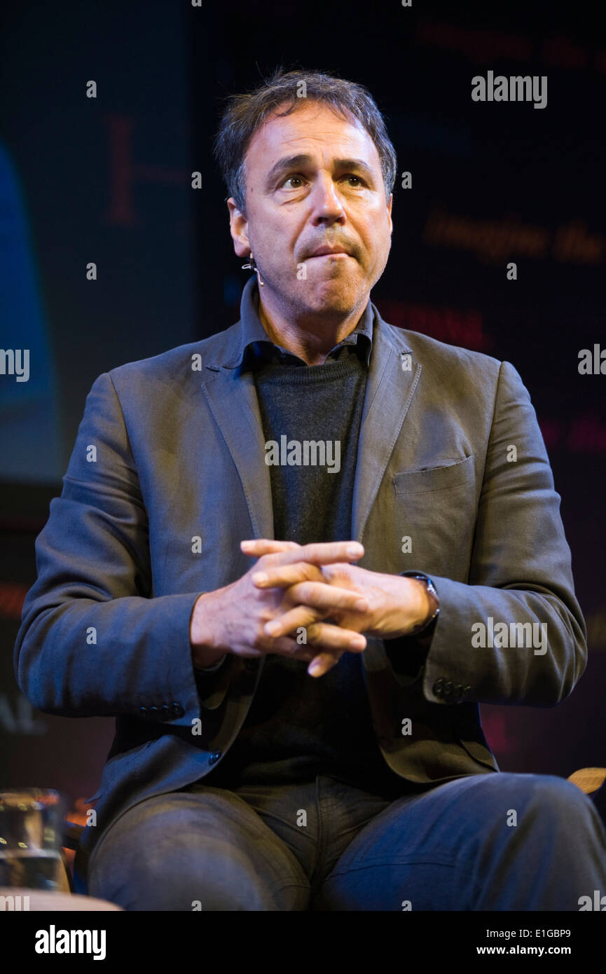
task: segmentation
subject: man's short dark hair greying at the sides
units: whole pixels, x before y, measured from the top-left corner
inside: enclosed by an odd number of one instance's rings
[[[301,105],[297,88],[302,82],[305,83],[303,90],[307,101],[324,102],[346,121],[350,121],[346,114],[349,112],[368,132],[379,154],[385,199],[389,202],[398,172],[396,150],[383,115],[369,91],[363,85],[336,78],[328,72],[284,71],[283,67],[276,68],[274,74],[254,91],[228,96],[212,146],[228,198],[232,196],[238,209],[246,213],[246,151],[250,140],[279,105],[288,103],[286,109],[278,113],[279,118]]]

